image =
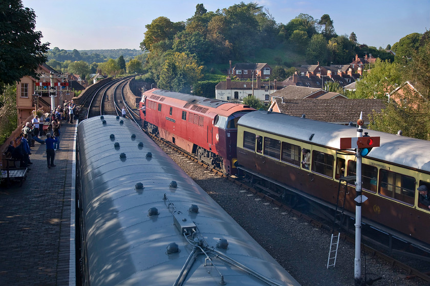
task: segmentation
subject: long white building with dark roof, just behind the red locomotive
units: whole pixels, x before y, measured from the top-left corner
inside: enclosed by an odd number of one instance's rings
[[[270,103],[270,95],[278,88],[276,80],[263,82],[260,76],[256,81],[231,81],[227,78],[215,86],[215,98],[225,101],[242,101],[245,97],[254,96],[264,104]]]

